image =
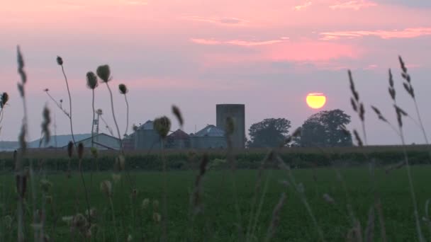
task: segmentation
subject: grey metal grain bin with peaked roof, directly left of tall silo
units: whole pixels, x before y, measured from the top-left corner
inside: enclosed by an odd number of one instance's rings
[[[214,125],[207,125],[196,134],[191,134],[190,141],[195,149],[224,149],[227,146],[225,132]]]

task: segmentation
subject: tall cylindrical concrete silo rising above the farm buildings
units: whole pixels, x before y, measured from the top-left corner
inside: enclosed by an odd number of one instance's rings
[[[217,104],[215,106],[217,120],[216,125],[225,129],[226,119],[232,117],[235,130],[232,135],[233,148],[245,146],[245,105],[244,104]]]

